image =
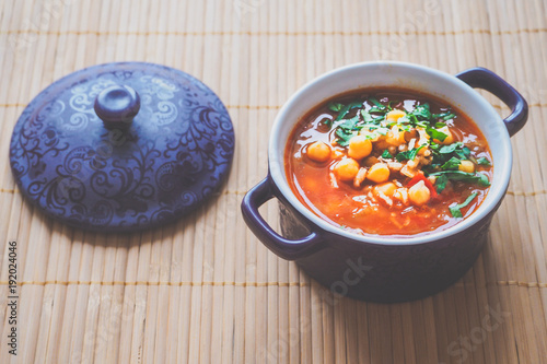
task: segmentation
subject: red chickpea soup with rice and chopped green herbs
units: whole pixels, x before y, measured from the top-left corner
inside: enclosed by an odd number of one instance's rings
[[[492,157],[455,107],[406,90],[364,90],[299,120],[286,153],[289,185],[311,211],[358,234],[444,230],[488,193]]]

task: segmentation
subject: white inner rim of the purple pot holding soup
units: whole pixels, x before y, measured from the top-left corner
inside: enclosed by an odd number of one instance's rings
[[[323,220],[315,213],[313,213],[307,207],[305,207],[294,195],[292,189],[290,188],[288,181],[287,181],[287,176],[284,172],[284,146],[287,144],[287,141],[283,141],[283,148],[281,151],[277,150],[276,148],[276,140],[278,140],[280,137],[281,131],[283,130],[283,120],[287,119],[287,114],[290,111],[291,107],[293,104],[298,103],[301,98],[303,98],[305,95],[309,93],[313,92],[314,86],[319,83],[324,82],[325,80],[328,80],[333,77],[336,77],[336,74],[341,73],[341,72],[347,72],[353,69],[362,69],[362,68],[369,68],[369,67],[403,67],[407,68],[410,70],[416,70],[416,71],[421,71],[421,72],[427,72],[430,73],[433,77],[443,79],[445,82],[452,83],[455,89],[455,92],[467,92],[467,93],[473,93],[473,96],[476,98],[476,102],[479,104],[479,107],[484,108],[485,111],[488,111],[491,114],[492,117],[492,128],[502,128],[504,132],[500,132],[499,134],[501,136],[501,140],[497,140],[497,143],[500,143],[500,146],[498,146],[498,150],[501,150],[502,152],[505,152],[507,155],[502,158],[503,163],[497,162],[494,163],[494,171],[500,172],[499,176],[500,178],[496,179],[492,185],[490,186],[490,190],[488,191],[488,195],[486,199],[480,203],[479,208],[473,212],[473,214],[466,219],[464,219],[462,222],[458,222],[454,226],[451,226],[446,230],[441,230],[439,232],[428,232],[424,233],[424,235],[419,235],[419,236],[397,236],[393,237],[389,235],[372,235],[372,234],[356,234],[351,233],[348,231],[345,231],[340,227],[337,227],[327,221]],[[453,92],[454,92],[453,91]],[[333,95],[336,96],[336,95]],[[322,101],[318,101],[316,105],[318,105]],[[294,128],[294,125],[296,120],[292,120],[290,122],[290,128]],[[480,128],[480,127],[479,127]],[[480,128],[481,131],[484,131],[484,128]],[[499,130],[498,130],[499,131]],[[491,140],[488,140],[488,143],[490,145],[490,150],[492,152],[493,156],[493,151],[492,151],[492,142]],[[498,153],[502,153],[498,152]],[[327,73],[324,73],[314,80],[310,81],[306,83],[304,86],[299,89],[283,105],[283,107],[279,110],[275,122],[274,127],[271,130],[270,134],[270,140],[269,140],[269,146],[268,146],[268,161],[269,161],[269,174],[271,178],[274,179],[274,183],[276,184],[277,188],[279,191],[283,195],[283,197],[287,199],[287,201],[296,209],[302,215],[304,215],[309,221],[311,221],[313,224],[317,225],[321,230],[324,230],[326,232],[329,232],[335,235],[340,235],[353,240],[359,240],[363,243],[372,243],[372,244],[377,244],[377,245],[419,245],[419,244],[424,244],[424,243],[430,243],[430,242],[437,242],[443,238],[447,238],[450,236],[456,235],[469,227],[472,227],[475,223],[478,221],[482,220],[485,216],[487,216],[494,208],[501,201],[501,199],[504,197],[507,188],[509,186],[509,179],[511,177],[511,166],[512,166],[512,151],[511,151],[511,142],[510,142],[510,137],[509,133],[507,132],[505,125],[501,117],[498,115],[498,113],[493,109],[492,105],[488,103],[480,94],[478,94],[473,87],[470,87],[468,84],[463,82],[462,80],[457,79],[455,75],[452,75],[450,73],[445,73],[442,71],[439,71],[437,69],[432,69],[429,67],[420,66],[420,64],[415,64],[415,63],[408,63],[408,62],[399,62],[399,61],[377,61],[377,62],[360,62],[360,63],[353,63],[353,64],[348,64],[341,68],[337,68],[335,70],[331,70]],[[310,226],[311,231],[313,231],[313,226]]]

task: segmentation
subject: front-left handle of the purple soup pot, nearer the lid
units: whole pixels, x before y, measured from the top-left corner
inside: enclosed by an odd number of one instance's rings
[[[274,190],[274,183],[268,175],[258,185],[249,189],[243,198],[241,209],[245,223],[251,231],[279,257],[288,260],[304,258],[323,246],[323,237],[318,231],[312,231],[310,235],[291,240],[276,233],[263,219],[258,208],[277,197]]]

